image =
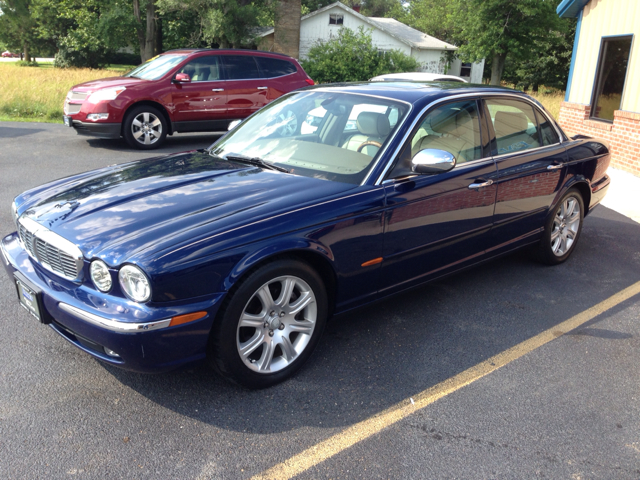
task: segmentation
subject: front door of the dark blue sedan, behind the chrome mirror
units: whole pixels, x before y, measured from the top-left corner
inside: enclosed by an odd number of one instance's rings
[[[382,291],[420,283],[484,253],[496,198],[488,140],[475,99],[438,105],[416,124],[384,182]],[[411,159],[424,149],[445,150],[457,164],[446,173],[413,174]]]

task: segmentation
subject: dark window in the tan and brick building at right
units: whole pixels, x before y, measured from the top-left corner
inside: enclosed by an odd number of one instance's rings
[[[596,75],[591,117],[613,122],[613,112],[620,109],[633,37],[603,38]]]

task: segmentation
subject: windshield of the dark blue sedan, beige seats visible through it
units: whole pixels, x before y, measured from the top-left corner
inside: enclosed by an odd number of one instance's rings
[[[357,184],[408,111],[409,105],[391,99],[299,92],[242,122],[210,152],[260,158],[296,175]]]

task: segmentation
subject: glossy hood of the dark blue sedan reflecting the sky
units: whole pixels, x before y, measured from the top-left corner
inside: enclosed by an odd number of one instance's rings
[[[115,266],[354,187],[192,151],[69,177],[23,194],[20,211]]]

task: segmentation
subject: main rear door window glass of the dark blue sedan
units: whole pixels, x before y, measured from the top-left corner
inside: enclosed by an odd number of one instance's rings
[[[489,116],[496,134],[494,155],[540,147],[540,132],[533,107],[519,100],[488,98]]]

